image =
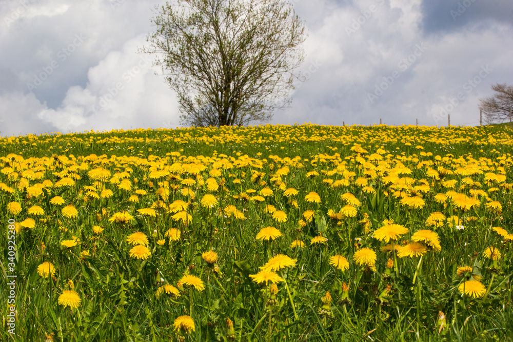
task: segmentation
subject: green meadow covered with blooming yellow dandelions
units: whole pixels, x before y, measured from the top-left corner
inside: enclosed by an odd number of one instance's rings
[[[0,340],[512,340],[512,146],[385,125],[0,138]]]

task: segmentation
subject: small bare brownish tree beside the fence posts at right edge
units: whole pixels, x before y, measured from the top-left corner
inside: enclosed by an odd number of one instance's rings
[[[488,123],[504,122],[510,119],[510,110],[513,107],[513,86],[496,84],[491,86],[494,96],[480,99],[479,108],[483,111]]]

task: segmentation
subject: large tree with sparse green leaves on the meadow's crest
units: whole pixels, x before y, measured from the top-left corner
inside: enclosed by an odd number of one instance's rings
[[[265,122],[290,104],[304,24],[284,0],[176,0],[156,7],[147,36],[177,94],[182,124]]]

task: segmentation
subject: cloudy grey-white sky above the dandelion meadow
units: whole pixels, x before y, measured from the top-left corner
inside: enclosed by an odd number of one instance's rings
[[[511,0],[291,0],[308,37],[271,124],[474,126],[513,84]],[[0,136],[180,127],[154,56],[157,0],[2,0]]]

